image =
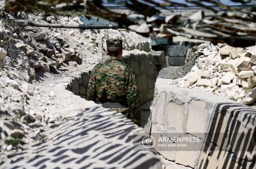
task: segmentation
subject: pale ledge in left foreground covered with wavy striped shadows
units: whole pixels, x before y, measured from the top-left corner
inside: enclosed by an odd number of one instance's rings
[[[56,127],[49,141],[33,145],[31,150],[18,155],[17,160],[6,162],[1,167],[161,168],[153,150],[133,150],[142,145],[141,138],[133,143],[133,133],[137,132],[144,133],[121,113],[99,106],[88,108]]]

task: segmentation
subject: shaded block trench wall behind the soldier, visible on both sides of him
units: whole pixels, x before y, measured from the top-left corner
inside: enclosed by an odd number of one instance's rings
[[[164,52],[128,52],[123,54],[122,62],[132,67],[141,104],[141,127],[149,133],[152,113],[150,106],[154,98],[155,82],[159,71],[166,67]],[[91,71],[88,71],[74,77],[66,89],[85,99],[90,74]]]

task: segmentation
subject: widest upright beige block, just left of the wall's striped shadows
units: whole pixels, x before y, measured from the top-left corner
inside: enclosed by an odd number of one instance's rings
[[[197,137],[204,138],[206,128],[206,103],[192,100],[188,106],[187,133],[194,133]]]

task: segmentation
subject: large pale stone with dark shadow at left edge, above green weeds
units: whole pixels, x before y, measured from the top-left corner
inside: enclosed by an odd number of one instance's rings
[[[21,138],[24,136],[24,132],[20,130],[20,128],[15,127],[12,123],[6,120],[1,120],[0,127],[3,131],[6,132],[8,136],[11,136],[13,138]]]

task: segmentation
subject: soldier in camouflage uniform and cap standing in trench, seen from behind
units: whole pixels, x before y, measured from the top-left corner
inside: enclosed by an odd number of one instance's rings
[[[122,40],[108,39],[109,58],[97,64],[90,76],[87,100],[99,101],[103,107],[121,112],[140,126],[140,102],[132,69],[121,62]]]

